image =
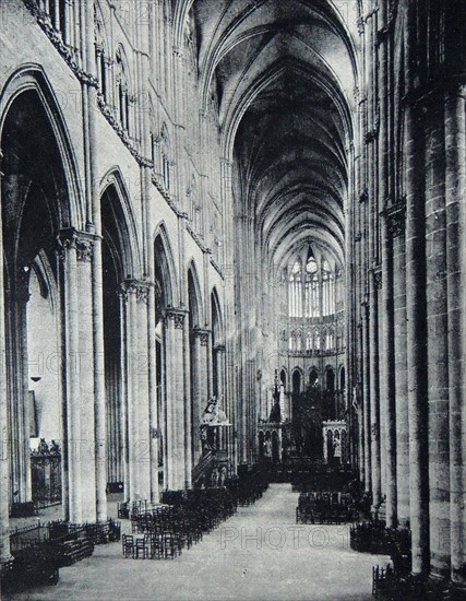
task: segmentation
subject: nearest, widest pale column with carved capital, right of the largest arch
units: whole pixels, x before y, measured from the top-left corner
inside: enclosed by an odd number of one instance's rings
[[[64,290],[65,432],[69,519],[96,521],[92,256],[94,235],[60,233]]]

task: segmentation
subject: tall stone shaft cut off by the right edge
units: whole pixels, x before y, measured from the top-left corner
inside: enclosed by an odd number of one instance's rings
[[[451,579],[466,593],[466,122],[465,89],[445,97],[445,205],[449,292]]]

